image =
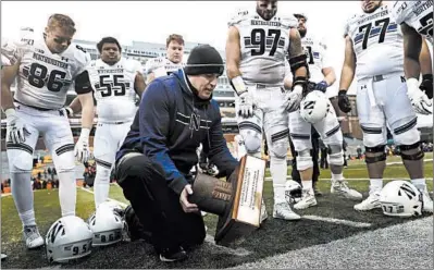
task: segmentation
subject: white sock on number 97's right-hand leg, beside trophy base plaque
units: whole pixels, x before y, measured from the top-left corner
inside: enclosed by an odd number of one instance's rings
[[[286,159],[277,159],[271,157],[270,173],[273,177],[274,204],[286,202],[285,200],[285,183],[287,175]]]

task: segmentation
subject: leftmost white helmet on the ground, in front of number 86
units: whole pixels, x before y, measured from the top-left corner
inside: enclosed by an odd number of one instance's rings
[[[67,216],[57,220],[46,235],[48,261],[67,262],[90,255],[92,232],[80,218]]]

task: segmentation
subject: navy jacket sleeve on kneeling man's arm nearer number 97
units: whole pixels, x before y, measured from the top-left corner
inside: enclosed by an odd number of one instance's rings
[[[203,143],[203,148],[212,163],[216,165],[221,177],[230,176],[235,168],[238,165],[238,161],[232,156],[227,148],[226,139],[223,136],[222,130],[222,116],[220,114],[219,106],[215,105],[214,120],[210,128],[209,142]],[[208,144],[209,143],[209,144]]]

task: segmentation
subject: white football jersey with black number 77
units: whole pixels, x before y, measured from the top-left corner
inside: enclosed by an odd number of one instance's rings
[[[352,40],[359,79],[404,72],[404,40],[387,5],[348,20],[344,36]]]

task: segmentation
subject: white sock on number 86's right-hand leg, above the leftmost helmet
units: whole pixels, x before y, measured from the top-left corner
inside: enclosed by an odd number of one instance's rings
[[[77,187],[75,183],[75,168],[73,170],[60,172],[59,176],[59,200],[62,209],[62,217],[75,216],[75,205],[77,200]]]

